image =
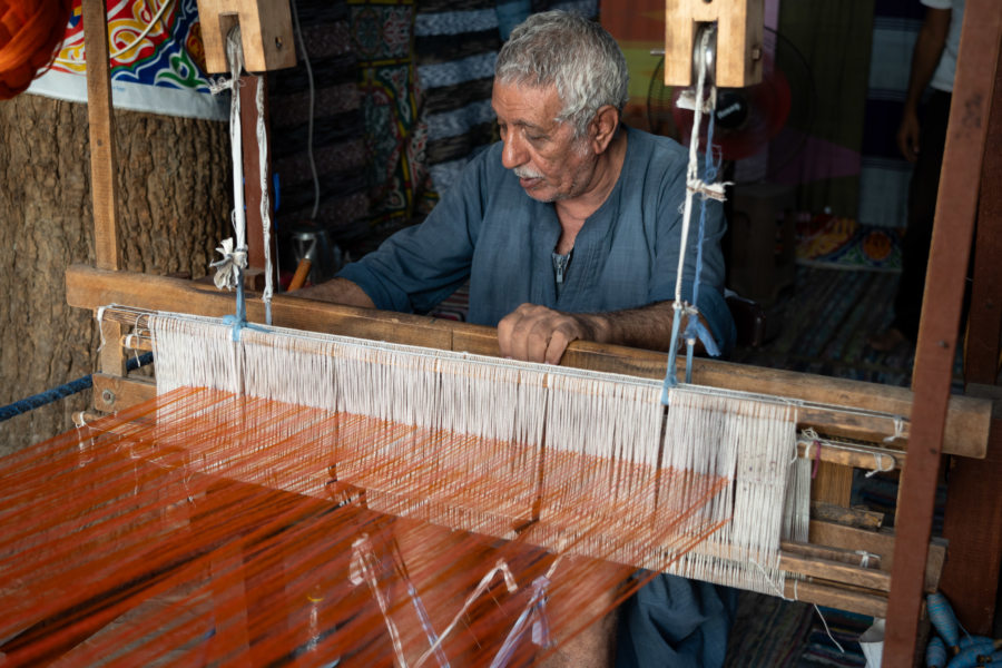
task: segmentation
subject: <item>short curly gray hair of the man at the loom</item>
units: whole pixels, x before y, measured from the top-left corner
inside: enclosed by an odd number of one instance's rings
[[[584,137],[596,111],[612,105],[622,111],[629,98],[626,57],[601,26],[567,11],[525,19],[501,48],[494,78],[502,84],[557,86],[563,108],[557,120],[571,121]]]

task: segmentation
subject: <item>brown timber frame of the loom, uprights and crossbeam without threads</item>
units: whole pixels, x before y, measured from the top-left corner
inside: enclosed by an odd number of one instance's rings
[[[760,0],[745,0],[755,6]],[[988,102],[992,100],[992,84],[995,79],[994,66],[999,55],[999,35],[1002,32],[998,20],[992,19],[993,0],[969,0],[964,21],[961,58],[957,63],[957,89],[955,96],[982,96],[978,110],[983,118],[989,117]],[[668,0],[671,4],[671,0]],[[998,12],[995,12],[998,13]],[[754,16],[760,16],[760,11]],[[976,18],[972,18],[976,17]],[[998,17],[995,17],[998,19]],[[976,23],[976,24],[975,24]],[[84,0],[85,43],[89,59],[88,67],[88,118],[90,122],[91,145],[91,194],[95,215],[95,253],[96,266],[72,266],[67,271],[67,302],[72,306],[97,310],[107,304],[120,303],[128,306],[164,311],[186,311],[200,315],[224,315],[232,312],[232,297],[216,293],[204,285],[171,279],[159,276],[132,274],[120,271],[121,255],[118,242],[118,194],[115,181],[115,147],[112,141],[112,112],[110,99],[109,72],[107,68],[107,42],[100,36],[107,33],[101,0]],[[982,39],[979,41],[979,37]],[[994,36],[994,46],[990,43]],[[964,45],[979,42],[979,52]],[[984,47],[983,45],[988,45]],[[100,66],[104,63],[104,67]],[[995,87],[998,99],[999,87]],[[969,90],[970,89],[970,90]],[[986,92],[986,95],[985,95]],[[961,105],[954,105],[959,109]],[[991,108],[992,127],[999,127],[1002,116],[1000,105]],[[956,278],[962,279],[961,252],[957,245],[964,245],[964,234],[973,225],[973,203],[976,200],[976,187],[980,183],[980,156],[984,148],[984,124],[981,128],[969,128],[955,131],[960,126],[960,111],[954,111],[957,119],[951,116],[951,141],[947,144],[946,163],[960,164],[961,157],[974,153],[979,156],[976,166],[966,165],[960,169],[967,178],[967,184],[947,181],[941,184],[941,193],[947,187],[954,188],[951,199],[956,210],[946,210],[941,198],[941,209],[936,214],[936,236],[930,261],[931,276],[954,281],[931,281],[932,292],[942,298],[955,297]],[[976,150],[975,150],[976,149]],[[253,151],[250,151],[253,153]],[[246,166],[245,166],[246,167]],[[944,169],[945,175],[945,169]],[[257,179],[249,179],[247,188],[254,195]],[[973,184],[971,186],[970,184]],[[973,188],[973,190],[972,190]],[[261,194],[257,193],[257,197]],[[965,199],[966,198],[966,199]],[[982,212],[984,217],[985,212]],[[988,212],[993,220],[999,219],[999,206]],[[961,234],[951,233],[953,239],[944,232],[941,219],[952,217],[962,225]],[[998,226],[998,224],[996,224]],[[966,239],[970,240],[970,234]],[[953,242],[952,246],[950,242]],[[951,249],[944,250],[945,246]],[[941,287],[945,285],[945,287]],[[976,283],[975,283],[976,285]],[[953,292],[951,292],[953,291]],[[929,293],[926,298],[930,298]],[[956,299],[959,304],[959,299]],[[474,325],[434,321],[428,317],[403,314],[377,313],[331,304],[321,304],[299,299],[291,295],[276,295],[273,303],[274,322],[277,325],[304,330],[327,331],[353,336],[383,338],[386,341],[415,343],[430,347],[466,350],[470,352],[497,354],[497,335],[492,328]],[[917,531],[902,534],[897,540],[885,532],[873,532],[837,523],[812,521],[811,546],[784,546],[784,558],[794,566],[794,570],[811,576],[800,582],[798,596],[802,600],[816,601],[833,607],[856,610],[859,612],[884,616],[887,613],[887,599],[883,597],[890,590],[891,611],[895,617],[888,621],[888,646],[885,651],[885,665],[904,666],[911,664],[916,637],[916,621],[921,609],[921,592],[935,586],[939,570],[943,566],[944,549],[934,544],[926,553],[929,525],[931,524],[931,494],[934,473],[939,464],[940,453],[961,454],[966,458],[984,458],[986,446],[991,442],[998,449],[998,422],[992,422],[992,404],[988,400],[950,396],[949,370],[944,371],[943,360],[953,358],[956,341],[951,327],[955,330],[959,321],[952,311],[945,315],[936,315],[926,310],[922,323],[918,357],[916,358],[914,392],[903,389],[870,385],[838,379],[812,376],[790,372],[777,372],[748,366],[699,360],[694,372],[694,380],[700,384],[730,389],[754,389],[757,392],[777,395],[811,399],[836,405],[863,405],[866,407],[884,406],[890,413],[913,415],[913,429],[922,430],[911,439],[911,452],[907,455],[908,468],[903,475],[902,501],[908,522],[917,527]],[[259,303],[248,304],[248,317],[254,322],[263,322],[263,308]],[[121,320],[106,318],[100,323],[105,341],[120,342],[129,325]],[[931,332],[935,332],[931,334]],[[998,328],[994,330],[998,341]],[[945,343],[945,345],[941,345]],[[151,392],[146,380],[128,377],[126,373],[127,351],[121,345],[106,345],[100,353],[100,373],[95,375],[95,407],[98,410],[116,410],[139,401]],[[564,364],[631,373],[641,376],[659,377],[664,373],[666,356],[648,351],[635,351],[621,346],[599,345],[588,342],[574,342],[567,355]],[[848,425],[846,435],[859,436],[866,430],[859,425]],[[875,440],[881,434],[872,433]],[[839,434],[835,426],[826,433]],[[916,449],[916,445],[921,444]],[[903,450],[902,450],[903,453]],[[832,459],[825,455],[822,459]],[[849,462],[853,463],[853,462]],[[858,463],[858,462],[856,462]],[[911,474],[908,471],[920,471]],[[933,479],[930,477],[933,472]],[[822,466],[822,489],[813,491],[815,499],[832,501],[847,505],[847,474],[852,470],[836,462],[825,462]],[[914,500],[914,501],[912,501]],[[906,510],[907,509],[907,510]],[[971,511],[972,509],[966,509]],[[970,513],[976,517],[976,512]],[[924,528],[924,529],[923,529]],[[996,532],[998,533],[998,532]],[[994,569],[998,571],[998,537],[993,553]],[[831,546],[839,546],[835,550]],[[858,566],[846,570],[853,563],[854,550],[864,549],[881,556],[880,569],[883,572],[893,568],[893,578],[874,577],[873,572],[859,572]],[[893,563],[893,566],[892,566]],[[835,564],[835,566],[833,566]],[[841,566],[838,566],[841,564]],[[969,564],[970,566],[970,564]],[[963,564],[962,564],[963,567]],[[971,570],[969,568],[969,570]],[[835,576],[838,571],[837,577]],[[843,572],[844,571],[844,572]],[[827,576],[827,577],[826,577]],[[819,577],[817,581],[813,578]],[[841,580],[842,583],[833,584]],[[875,582],[880,584],[874,588]],[[862,587],[862,588],[861,588]],[[895,658],[895,657],[901,657]],[[901,662],[897,662],[901,661]]]

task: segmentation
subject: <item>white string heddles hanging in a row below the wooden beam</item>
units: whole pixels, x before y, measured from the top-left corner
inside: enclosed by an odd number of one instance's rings
[[[372,446],[374,456],[382,453],[413,466],[403,465],[407,473],[393,480],[399,492],[387,490],[382,500],[369,494],[374,510],[440,522],[446,513],[454,528],[508,536],[507,518],[520,517],[524,510],[519,509],[531,507],[539,493],[542,525],[548,517],[560,515],[561,494],[569,494],[567,503],[595,499],[593,510],[577,513],[580,524],[571,531],[580,536],[568,537],[559,527],[546,534],[541,527],[537,544],[558,551],[568,544],[572,553],[658,570],[678,559],[671,572],[763,592],[777,586],[782,590],[779,539],[796,448],[796,409],[787,402],[680,386],[670,395],[666,418],[656,380],[278,327],[245,328],[234,342],[230,325],[195,316],[151,316],[149,328],[159,393],[215,387],[413,425],[430,434],[470,434],[502,455],[517,443],[523,453],[518,462],[497,459],[513,466],[498,472],[510,483],[503,499],[494,498],[497,487],[469,483],[482,478],[478,466],[483,463],[464,461],[461,450],[449,465],[466,473],[446,477],[449,484],[436,482],[436,489],[422,494],[416,490],[423,488],[413,487],[421,483],[413,471],[428,469],[430,460],[432,465],[445,461],[439,441],[425,439],[434,450],[409,452],[400,449],[413,444],[381,440]],[[453,443],[462,444],[461,439]],[[538,471],[543,445],[554,455],[546,459],[547,466],[561,452],[584,455],[597,465],[571,480],[573,489],[549,489],[543,475],[540,491],[536,475],[525,471]],[[655,466],[665,475],[641,489],[630,475],[635,465]],[[478,495],[482,493],[493,497],[484,500]],[[452,503],[454,499],[464,503]],[[443,510],[450,503],[459,508]],[[620,517],[613,508],[628,512]],[[688,509],[688,514],[679,517],[677,509]],[[713,536],[684,554],[717,524]],[[592,531],[602,527],[613,527],[607,533],[615,536]],[[636,532],[623,531],[633,528]],[[616,538],[622,534],[632,538]]]

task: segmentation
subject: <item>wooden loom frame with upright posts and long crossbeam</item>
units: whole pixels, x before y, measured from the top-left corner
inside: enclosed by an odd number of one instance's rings
[[[669,2],[669,9],[672,4],[675,3]],[[974,46],[962,50],[962,60],[957,70],[957,96],[963,95],[962,87],[966,81],[966,85],[973,88],[971,95],[981,94],[980,108],[984,112],[984,118],[989,116],[986,105],[991,99],[991,95],[985,96],[984,90],[986,87],[991,92],[992,79],[983,72],[978,72],[976,67],[969,65],[973,60],[965,59],[971,59],[975,52],[986,53],[982,57],[994,63],[998,57],[998,21],[992,23],[990,20],[971,19],[972,16],[985,18],[991,13],[992,9],[988,2],[981,4],[972,2],[967,8],[963,43],[965,46],[976,45],[979,37],[986,35],[983,41],[988,46],[981,49]],[[975,28],[972,29],[971,26]],[[92,59],[91,62],[100,62],[101,55],[107,55],[102,40],[95,37],[104,33],[100,2],[85,0],[85,27],[88,36],[88,52],[98,55],[98,58]],[[991,35],[988,35],[992,29],[995,30],[994,46],[991,45]],[[291,37],[286,43],[291,43]],[[106,69],[102,71],[102,69],[92,67],[88,71],[88,89],[91,100],[89,107],[91,146],[94,147],[97,267],[76,266],[67,272],[68,303],[90,310],[107,304],[128,304],[154,311],[186,311],[210,316],[229,314],[232,312],[229,295],[223,295],[215,289],[188,282],[118,271],[116,194],[114,179],[110,178],[115,173],[114,155],[111,154],[110,91],[107,71]],[[981,73],[981,77],[978,78],[976,73]],[[965,76],[967,79],[964,78]],[[995,95],[998,96],[998,87]],[[960,143],[967,141],[967,146],[982,146],[984,128],[981,128],[980,134],[979,128],[966,128],[966,135],[960,134],[957,139],[952,139],[953,144],[947,147],[947,163],[951,156],[960,153],[980,155],[980,151],[963,151],[963,145]],[[954,157],[954,161],[957,161],[957,158]],[[947,183],[944,170],[944,191],[950,187],[946,185]],[[972,183],[976,187],[978,179],[974,178]],[[954,191],[971,194],[972,186],[970,184],[960,184],[953,187]],[[957,199],[963,199],[963,197],[957,197]],[[957,218],[971,213],[970,218],[973,219],[973,195],[970,195],[967,199],[969,202],[954,203],[956,206],[953,210],[956,212]],[[945,205],[941,204],[941,206]],[[253,209],[253,206],[248,208]],[[967,228],[970,228],[970,222]],[[963,235],[956,235],[956,237],[960,238]],[[934,246],[937,252],[934,253],[931,261],[931,276],[935,276],[936,272],[942,275],[952,275],[947,264],[953,263],[955,266],[963,264],[957,257],[960,252],[954,252],[954,256],[951,257],[949,252],[942,250],[943,243],[940,240]],[[960,243],[957,242],[957,244]],[[960,272],[953,271],[953,274],[959,275]],[[931,284],[935,285],[936,282],[931,281]],[[959,299],[953,301],[959,304]],[[949,298],[946,303],[950,303]],[[493,330],[487,327],[444,323],[421,316],[384,314],[317,304],[286,295],[275,297],[273,315],[276,324],[297,330],[328,331],[443,350],[498,354],[497,335]],[[248,317],[253,322],[263,321],[263,308],[259,303],[248,304]],[[944,321],[949,320],[949,317],[944,317]],[[954,322],[956,320],[955,317]],[[101,322],[105,341],[125,343],[125,335],[135,324],[136,321],[131,315],[116,314],[114,311],[106,312],[106,317]],[[930,334],[932,331],[936,331],[936,333]],[[944,345],[940,345],[940,341]],[[929,471],[931,470],[934,477],[941,450],[946,454],[983,458],[990,441],[991,404],[988,401],[950,397],[947,402],[946,387],[949,387],[950,377],[947,362],[952,361],[954,346],[955,336],[951,332],[951,323],[932,321],[926,317],[923,322],[923,338],[915,372],[916,392],[914,394],[906,390],[752,369],[709,360],[697,362],[694,382],[816,402],[821,405],[800,413],[799,426],[814,428],[818,433],[832,440],[870,443],[868,445],[857,444],[853,449],[846,450],[824,448],[812,453],[813,456],[821,460],[819,482],[815,485],[813,497],[819,504],[827,504],[818,505],[818,510],[831,510],[833,505],[847,505],[847,483],[851,479],[852,468],[878,468],[875,465],[878,456],[893,458],[896,468],[904,468],[907,463],[907,471],[924,472],[925,480],[920,481],[917,485],[912,483],[911,475],[904,477],[905,484],[902,491],[904,499],[907,499],[910,490],[915,487],[924,488],[921,493],[929,497],[932,489]],[[101,373],[95,376],[95,405],[98,410],[122,410],[154,394],[153,385],[148,381],[127,377],[125,361],[128,354],[122,345],[106,344],[104,346]],[[929,361],[927,365],[926,361]],[[666,355],[579,342],[570,347],[563,364],[644,377],[661,377]],[[945,372],[943,371],[944,364],[947,364]],[[946,385],[943,384],[943,379],[945,379]],[[907,416],[913,413],[913,406],[922,406],[922,410],[915,412],[914,418],[904,424],[901,432],[903,439],[890,446],[874,446],[873,443],[881,443],[884,438],[894,434],[893,416]],[[858,409],[864,409],[867,413],[859,413]],[[886,415],[874,415],[874,412]],[[905,451],[902,444],[904,441],[911,444],[910,452]],[[916,442],[922,443],[917,450],[914,448]],[[931,497],[929,498],[931,499]],[[797,597],[800,600],[816,601],[884,617],[887,616],[890,592],[892,609],[896,605],[901,610],[897,617],[891,616],[890,623],[892,627],[895,623],[901,625],[905,631],[902,635],[903,639],[896,640],[897,649],[885,652],[887,658],[911,652],[912,646],[914,646],[914,620],[917,617],[918,595],[923,588],[926,590],[935,588],[943,563],[944,550],[941,546],[930,550],[926,563],[924,546],[929,539],[931,502],[927,503],[929,508],[923,508],[923,504],[924,501],[918,500],[915,503],[901,505],[897,525],[903,527],[902,531],[908,531],[911,534],[905,539],[900,539],[896,546],[894,538],[887,533],[846,527],[844,523],[822,519],[812,521],[809,544],[784,546],[784,559],[789,570],[805,577],[799,582],[797,590]],[[865,513],[853,513],[852,511],[846,511],[846,513],[852,515],[857,523],[865,524],[867,521]],[[912,517],[905,521],[908,513]],[[915,517],[915,513],[918,515]],[[926,527],[924,537],[921,528],[923,523]],[[915,536],[915,531],[917,531],[917,536]],[[865,550],[871,554],[880,556],[880,560],[871,559],[870,564],[864,568],[859,564],[861,560],[856,550]],[[893,580],[891,578],[892,561],[894,563]],[[793,592],[787,591],[786,593],[790,596]],[[912,626],[911,642],[908,642],[907,631],[910,625]],[[893,628],[888,633],[888,640],[892,638],[894,638]]]

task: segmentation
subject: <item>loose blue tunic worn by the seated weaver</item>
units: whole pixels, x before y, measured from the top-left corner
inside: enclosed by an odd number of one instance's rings
[[[557,213],[525,194],[501,165],[501,149],[498,143],[474,158],[424,223],[396,233],[338,275],[377,308],[405,313],[430,311],[469,278],[469,320],[491,326],[525,302],[588,313],[675,298],[688,158],[682,147],[627,128],[622,171],[578,233],[559,296]],[[708,207],[697,306],[727,351],[735,328],[723,295],[721,209],[718,203]],[[695,216],[686,301],[696,276]],[[617,667],[721,665],[734,606],[733,590],[657,576],[620,610]]]

